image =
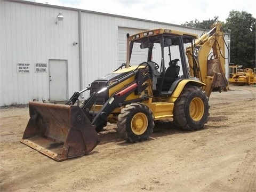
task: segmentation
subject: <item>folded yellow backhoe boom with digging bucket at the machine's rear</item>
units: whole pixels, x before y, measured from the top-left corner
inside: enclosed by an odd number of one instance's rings
[[[197,39],[193,46],[187,47],[186,54],[190,76],[206,84],[203,90],[207,97],[212,91],[227,91],[225,40],[220,23],[215,23],[207,34]]]

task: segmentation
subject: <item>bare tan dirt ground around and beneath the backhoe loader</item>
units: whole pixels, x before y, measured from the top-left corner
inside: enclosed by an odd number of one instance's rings
[[[28,107],[0,109],[0,191],[256,191],[256,87],[210,97],[205,129],[158,124],[150,140],[126,143],[116,125],[90,155],[56,162],[20,143]]]

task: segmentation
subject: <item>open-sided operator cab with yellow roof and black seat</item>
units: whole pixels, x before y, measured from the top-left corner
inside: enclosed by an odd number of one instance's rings
[[[131,41],[130,64],[138,65],[141,59],[151,68],[154,97],[169,97],[182,79],[189,78],[185,47],[194,39],[163,33]]]

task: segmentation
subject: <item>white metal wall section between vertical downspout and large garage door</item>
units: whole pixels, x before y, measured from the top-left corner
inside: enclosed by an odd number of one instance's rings
[[[83,87],[117,68],[115,17],[82,12]]]

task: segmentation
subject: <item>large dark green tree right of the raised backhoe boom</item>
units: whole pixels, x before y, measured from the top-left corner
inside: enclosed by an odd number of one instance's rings
[[[230,62],[255,68],[255,18],[245,11],[230,11],[223,28],[230,33]],[[254,64],[254,66],[253,66]]]

